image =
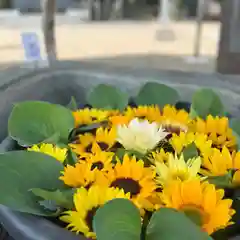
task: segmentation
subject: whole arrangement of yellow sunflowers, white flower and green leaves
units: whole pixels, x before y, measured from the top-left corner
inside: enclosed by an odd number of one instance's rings
[[[211,89],[190,107],[179,99],[157,83],[131,101],[101,84],[82,108],[16,104],[8,130],[21,150],[0,155],[0,204],[82,239],[237,235],[239,122]]]

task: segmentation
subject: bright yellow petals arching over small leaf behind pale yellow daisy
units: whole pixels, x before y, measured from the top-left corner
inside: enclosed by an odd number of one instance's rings
[[[179,135],[173,134],[172,138],[169,140],[177,154],[180,154],[185,147],[195,143],[197,149],[200,151],[201,155],[208,156],[212,153],[212,141],[208,139],[208,136],[202,133],[193,132],[180,132]]]

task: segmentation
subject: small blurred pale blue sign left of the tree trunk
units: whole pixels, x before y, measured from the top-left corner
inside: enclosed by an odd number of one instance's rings
[[[22,33],[21,37],[26,60],[41,60],[42,57],[38,35],[34,32],[26,32]]]

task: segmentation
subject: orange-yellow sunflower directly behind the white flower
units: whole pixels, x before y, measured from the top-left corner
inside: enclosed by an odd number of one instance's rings
[[[161,113],[160,109],[157,105],[152,106],[138,106],[138,107],[128,107],[125,111],[125,116],[133,119],[133,118],[140,118],[145,119],[150,122],[155,122],[157,119],[160,118]]]

